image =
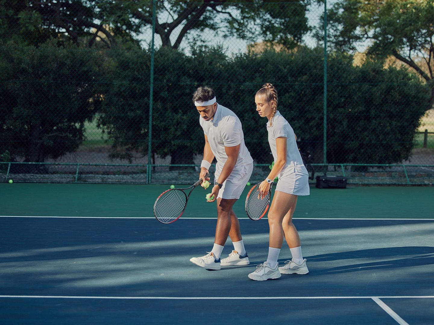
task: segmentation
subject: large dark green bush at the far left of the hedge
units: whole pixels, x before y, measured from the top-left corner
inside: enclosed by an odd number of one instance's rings
[[[98,53],[48,42],[0,46],[0,155],[45,162],[74,152],[91,120]]]

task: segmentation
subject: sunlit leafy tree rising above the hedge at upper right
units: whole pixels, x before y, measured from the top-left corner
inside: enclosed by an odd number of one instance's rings
[[[336,49],[355,50],[369,42],[367,54],[394,56],[426,82],[434,104],[434,1],[341,0],[328,11],[330,39]]]

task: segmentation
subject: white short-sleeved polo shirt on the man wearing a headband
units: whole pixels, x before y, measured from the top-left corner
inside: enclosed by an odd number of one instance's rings
[[[217,159],[216,171],[221,172],[227,160],[224,147],[233,147],[240,144],[237,163],[234,168],[253,163],[252,156],[244,143],[244,133],[240,119],[227,107],[217,104],[217,110],[210,121],[199,117],[199,123],[204,134],[208,138],[208,143],[212,153]]]

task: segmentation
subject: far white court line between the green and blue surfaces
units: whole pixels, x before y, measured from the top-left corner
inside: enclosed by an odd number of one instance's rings
[[[155,219],[155,217],[63,217],[63,216],[34,216],[34,215],[0,215],[0,218],[72,218],[72,219]],[[180,218],[179,220],[183,219],[217,219],[216,218]],[[238,218],[238,219],[246,219],[249,220],[247,217]],[[266,218],[262,218],[266,219]],[[297,220],[428,220],[428,221],[434,221],[432,218],[293,218]]]

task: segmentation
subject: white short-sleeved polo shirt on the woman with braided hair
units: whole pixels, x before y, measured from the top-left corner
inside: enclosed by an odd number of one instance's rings
[[[286,136],[286,165],[279,173],[279,178],[283,175],[292,174],[294,172],[301,172],[308,174],[306,167],[303,164],[296,139],[294,130],[289,125],[288,121],[276,111],[273,117],[273,125],[270,127],[270,121],[267,122],[268,142],[270,143],[271,153],[273,154],[274,161],[277,160],[276,138]],[[309,175],[309,174],[308,174]]]

